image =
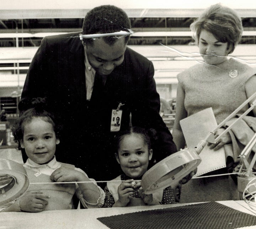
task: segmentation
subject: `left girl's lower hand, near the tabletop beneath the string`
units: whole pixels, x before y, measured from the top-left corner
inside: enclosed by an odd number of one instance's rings
[[[20,203],[20,210],[25,212],[42,212],[48,205],[50,196],[43,194],[41,191],[27,192],[18,201]]]

